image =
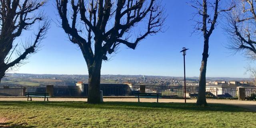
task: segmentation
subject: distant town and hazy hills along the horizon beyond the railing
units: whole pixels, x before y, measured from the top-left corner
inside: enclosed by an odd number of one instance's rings
[[[54,86],[74,86],[78,81],[88,83],[88,75],[58,75],[58,74],[7,74],[8,77],[2,79],[0,85],[8,86],[40,86],[53,84]],[[217,83],[216,83],[217,82]],[[145,75],[101,75],[101,84],[124,84],[133,85],[155,85],[155,86],[182,86],[183,77],[172,76],[145,76]],[[206,78],[207,85],[216,84],[252,84],[251,78],[228,78],[228,77],[209,77]],[[198,86],[198,77],[186,78],[187,86]]]

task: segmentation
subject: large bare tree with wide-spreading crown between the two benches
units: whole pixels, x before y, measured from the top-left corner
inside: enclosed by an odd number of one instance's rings
[[[56,7],[62,28],[86,61],[89,103],[100,102],[102,60],[119,44],[135,49],[148,35],[162,32],[166,18],[160,0],[56,0]]]

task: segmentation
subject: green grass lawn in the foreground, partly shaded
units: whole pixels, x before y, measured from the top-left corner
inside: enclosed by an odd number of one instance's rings
[[[0,102],[1,125],[33,128],[255,128],[256,112],[236,106],[146,102]]]

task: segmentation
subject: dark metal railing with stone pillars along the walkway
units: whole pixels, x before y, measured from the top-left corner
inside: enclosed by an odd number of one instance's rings
[[[103,96],[134,96],[135,93],[161,93],[163,98],[184,97],[183,86],[141,86],[126,84],[100,85]],[[50,92],[49,92],[50,91]],[[25,92],[48,92],[52,96],[87,96],[88,86],[0,86],[0,96],[25,96]],[[187,97],[197,97],[198,86],[186,87]],[[256,94],[256,88],[245,88],[245,96]],[[207,98],[238,98],[237,88],[206,89]]]

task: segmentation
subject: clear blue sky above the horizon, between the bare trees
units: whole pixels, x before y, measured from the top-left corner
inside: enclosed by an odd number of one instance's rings
[[[186,4],[188,0],[163,0],[166,4],[165,33],[158,33],[140,42],[136,50],[121,46],[119,53],[111,61],[103,62],[101,74],[183,76],[182,47],[189,48],[186,55],[186,76],[199,76],[202,60],[203,38],[193,34],[195,12]],[[29,63],[20,67],[17,73],[31,74],[88,74],[86,62],[79,48],[70,43],[64,30],[55,22],[56,9],[50,1],[44,12],[54,22],[43,40],[41,50],[29,58]],[[27,36],[22,34],[22,36]],[[225,48],[228,42],[222,25],[214,30],[210,37],[210,56],[207,64],[207,77],[249,77],[244,74],[244,67],[249,61],[242,55],[233,55]],[[250,62],[251,63],[251,62]]]

